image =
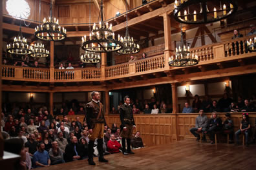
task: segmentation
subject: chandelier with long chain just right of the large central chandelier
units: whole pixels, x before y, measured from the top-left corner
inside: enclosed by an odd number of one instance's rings
[[[126,2],[127,3],[127,2]],[[126,6],[126,32],[123,39],[123,48],[118,50],[117,53],[129,54],[140,52],[140,45],[133,41],[133,37],[130,37],[128,30],[128,18],[127,18],[127,6]]]

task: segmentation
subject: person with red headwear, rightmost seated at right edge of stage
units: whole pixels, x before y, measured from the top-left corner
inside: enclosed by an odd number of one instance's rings
[[[248,113],[243,113],[242,114],[242,121],[240,123],[240,128],[239,128],[239,130],[237,130],[235,132],[235,139],[236,139],[235,144],[236,145],[240,144],[239,135],[241,133],[244,133],[245,140],[246,140],[246,146],[248,146],[250,129],[251,129],[251,124],[250,124],[250,121],[249,121],[249,114]]]

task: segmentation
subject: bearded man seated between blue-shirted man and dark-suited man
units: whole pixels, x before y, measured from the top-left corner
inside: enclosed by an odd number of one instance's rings
[[[51,165],[65,163],[63,158],[63,151],[59,149],[58,143],[56,141],[52,142],[52,148],[49,150]]]

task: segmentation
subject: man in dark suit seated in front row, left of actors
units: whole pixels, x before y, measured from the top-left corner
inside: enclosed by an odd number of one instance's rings
[[[65,162],[80,160],[81,155],[81,147],[80,144],[78,144],[78,138],[74,136],[71,138],[71,143],[66,146],[64,160]]]

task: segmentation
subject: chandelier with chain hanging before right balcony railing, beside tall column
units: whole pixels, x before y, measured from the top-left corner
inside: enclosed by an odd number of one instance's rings
[[[182,28],[182,27],[181,27]],[[185,67],[198,64],[198,56],[190,53],[189,46],[186,47],[183,41],[183,33],[181,31],[181,47],[176,48],[175,55],[169,57],[169,66]]]

